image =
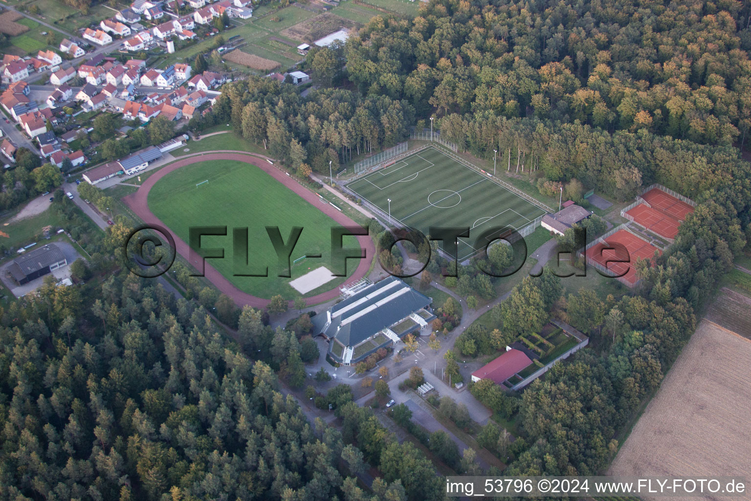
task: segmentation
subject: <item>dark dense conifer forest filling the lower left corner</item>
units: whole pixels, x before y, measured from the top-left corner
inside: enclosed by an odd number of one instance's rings
[[[237,344],[155,280],[94,271],[0,311],[3,499],[442,499],[430,461],[348,386],[327,397],[344,436],[282,393],[294,333],[246,307]],[[385,476],[371,494],[366,461]]]

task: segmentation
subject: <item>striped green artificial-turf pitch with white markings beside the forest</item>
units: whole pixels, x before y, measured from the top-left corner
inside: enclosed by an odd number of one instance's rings
[[[475,238],[494,226],[524,228],[545,211],[430,146],[347,185],[403,225],[469,227],[459,239],[460,261],[478,252]],[[475,247],[477,247],[475,249]]]

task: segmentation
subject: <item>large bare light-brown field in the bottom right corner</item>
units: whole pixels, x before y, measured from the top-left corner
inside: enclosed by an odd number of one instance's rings
[[[701,321],[608,475],[751,478],[749,367],[751,341]]]

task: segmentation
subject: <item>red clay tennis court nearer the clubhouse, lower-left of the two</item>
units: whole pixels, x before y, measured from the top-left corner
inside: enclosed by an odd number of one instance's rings
[[[636,264],[637,259],[649,259],[652,258],[654,252],[657,251],[662,254],[662,251],[653,246],[647,240],[642,240],[630,231],[620,230],[616,231],[610,237],[605,239],[605,242],[609,244],[620,243],[626,247],[628,254],[623,252],[623,249],[607,249],[607,246],[602,243],[597,243],[587,249],[587,259],[595,261],[602,267],[607,268],[614,275],[620,275],[625,273],[620,279],[623,282],[627,282],[629,285],[634,285],[637,281],[636,270],[632,264]],[[612,260],[626,262],[610,262]]]

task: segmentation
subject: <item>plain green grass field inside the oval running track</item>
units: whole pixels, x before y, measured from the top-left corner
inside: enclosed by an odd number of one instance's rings
[[[209,182],[196,187],[204,180]],[[191,226],[227,226],[226,237],[201,237],[201,248],[225,249],[223,259],[206,262],[241,291],[256,297],[282,294],[293,299],[300,293],[289,285],[291,280],[321,266],[331,270],[331,228],[337,223],[254,165],[233,160],[186,165],[158,180],[148,200],[152,213],[185,242]],[[278,259],[266,226],[278,226],[285,243],[293,226],[303,227],[290,261],[306,254],[321,254],[321,258],[293,264],[291,278],[277,276]],[[256,269],[268,266],[268,277],[233,276],[232,228],[244,227],[248,227],[249,264]],[[345,237],[342,245],[357,247],[358,243],[355,237]],[[350,261],[347,273],[356,268]],[[303,295],[329,291],[344,281],[345,277],[336,277]]]

